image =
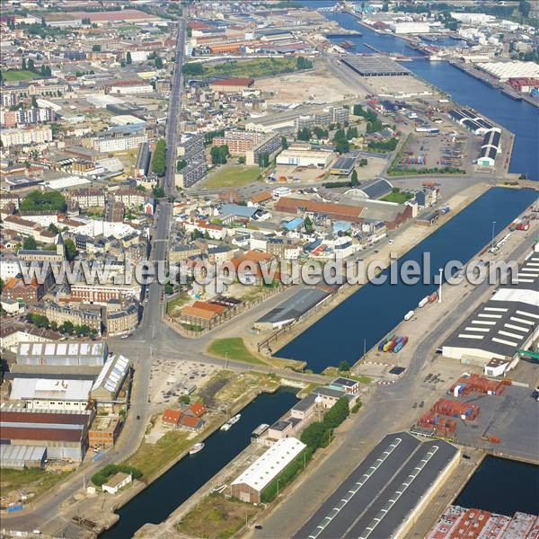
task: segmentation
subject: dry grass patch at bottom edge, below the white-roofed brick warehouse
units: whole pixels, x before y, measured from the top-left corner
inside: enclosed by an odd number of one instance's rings
[[[181,518],[176,524],[176,531],[190,537],[227,539],[236,534],[258,511],[259,508],[250,503],[210,494]]]

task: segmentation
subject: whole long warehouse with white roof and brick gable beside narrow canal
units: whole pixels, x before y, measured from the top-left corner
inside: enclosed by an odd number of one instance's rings
[[[261,493],[304,449],[295,437],[278,440],[231,484],[231,494],[247,503],[260,503]]]

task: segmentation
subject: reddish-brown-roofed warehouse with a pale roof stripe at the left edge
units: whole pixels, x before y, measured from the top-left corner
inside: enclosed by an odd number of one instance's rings
[[[84,459],[93,411],[50,412],[0,407],[0,445],[47,447],[47,458]]]

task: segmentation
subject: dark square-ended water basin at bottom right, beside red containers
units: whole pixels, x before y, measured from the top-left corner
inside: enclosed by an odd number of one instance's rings
[[[487,456],[453,503],[508,517],[539,515],[539,466]]]

